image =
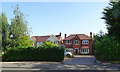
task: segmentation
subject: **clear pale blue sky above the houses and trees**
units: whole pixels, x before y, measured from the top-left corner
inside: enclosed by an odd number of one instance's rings
[[[24,13],[31,36],[107,33],[103,8],[108,2],[2,2],[7,19],[14,17],[15,5]]]

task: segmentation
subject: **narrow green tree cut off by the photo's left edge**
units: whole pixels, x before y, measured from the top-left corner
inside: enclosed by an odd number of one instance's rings
[[[2,13],[2,15],[0,16],[0,19],[1,19],[1,25],[2,25],[2,47],[3,49],[6,50],[7,46],[9,46],[9,42],[10,42],[10,39],[9,39],[9,24],[8,24],[8,21],[7,21],[7,17],[5,15],[5,13]]]

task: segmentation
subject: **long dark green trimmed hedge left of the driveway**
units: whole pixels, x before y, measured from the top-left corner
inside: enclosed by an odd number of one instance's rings
[[[3,61],[62,61],[64,48],[44,43],[40,47],[9,48],[2,56]]]

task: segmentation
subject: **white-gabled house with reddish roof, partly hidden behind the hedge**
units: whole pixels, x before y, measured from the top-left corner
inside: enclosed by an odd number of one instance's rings
[[[45,41],[52,41],[56,45],[62,43],[61,32],[59,35],[32,36],[32,39],[34,40],[33,46],[40,46]]]

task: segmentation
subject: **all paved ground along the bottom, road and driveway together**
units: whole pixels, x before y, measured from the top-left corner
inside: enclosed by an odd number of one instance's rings
[[[96,63],[91,55],[75,56],[64,62],[0,62],[2,70],[114,70],[119,71],[119,64]],[[23,71],[22,71],[23,72]],[[65,71],[67,72],[67,71]]]

